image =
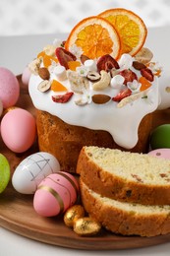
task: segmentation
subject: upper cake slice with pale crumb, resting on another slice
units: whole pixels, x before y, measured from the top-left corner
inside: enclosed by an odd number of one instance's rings
[[[142,205],[170,205],[170,160],[84,147],[77,172],[101,197]]]

